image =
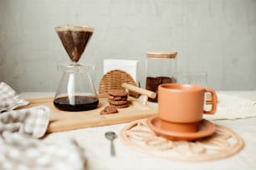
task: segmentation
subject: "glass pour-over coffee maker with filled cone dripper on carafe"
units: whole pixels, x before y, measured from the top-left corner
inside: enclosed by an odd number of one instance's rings
[[[79,64],[94,28],[63,25],[55,28],[71,63],[59,66],[63,75],[55,93],[54,106],[64,111],[85,111],[98,106],[99,97],[90,78],[90,65]]]

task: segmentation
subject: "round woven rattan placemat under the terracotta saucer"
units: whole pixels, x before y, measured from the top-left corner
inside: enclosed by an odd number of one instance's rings
[[[225,158],[243,148],[243,140],[229,128],[216,125],[216,132],[193,142],[172,141],[156,136],[146,119],[131,122],[121,131],[126,145],[143,153],[181,161],[207,161]]]

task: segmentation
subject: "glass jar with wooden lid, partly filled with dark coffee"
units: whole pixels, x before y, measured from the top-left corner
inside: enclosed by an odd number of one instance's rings
[[[146,89],[156,92],[156,98],[149,98],[157,102],[157,87],[162,83],[176,82],[173,77],[177,69],[177,52],[147,52],[146,53]]]

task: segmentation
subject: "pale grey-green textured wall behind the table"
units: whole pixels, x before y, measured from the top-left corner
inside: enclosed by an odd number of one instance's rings
[[[255,0],[0,0],[0,81],[18,92],[55,91],[68,63],[54,27],[88,24],[95,34],[80,62],[177,51],[177,66],[207,71],[208,87],[256,90]]]

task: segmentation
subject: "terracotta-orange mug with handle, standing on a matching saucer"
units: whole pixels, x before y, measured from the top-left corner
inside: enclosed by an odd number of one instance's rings
[[[212,108],[204,110],[205,93],[211,93]],[[178,133],[198,131],[202,114],[214,114],[217,95],[211,88],[197,85],[166,83],[158,86],[158,114],[161,128]]]

